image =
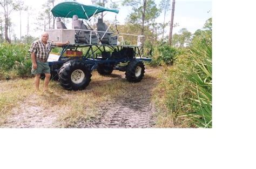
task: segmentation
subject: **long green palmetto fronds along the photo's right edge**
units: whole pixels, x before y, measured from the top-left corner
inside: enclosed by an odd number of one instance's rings
[[[191,72],[184,72],[191,83],[189,89],[192,98],[188,105],[191,111],[185,116],[191,117],[198,127],[212,127],[212,47],[197,46],[187,54],[191,62]]]

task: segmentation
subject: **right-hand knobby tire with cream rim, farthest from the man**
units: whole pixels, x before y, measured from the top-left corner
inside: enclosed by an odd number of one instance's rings
[[[140,82],[145,73],[145,65],[141,60],[131,61],[126,68],[125,77],[128,82]]]

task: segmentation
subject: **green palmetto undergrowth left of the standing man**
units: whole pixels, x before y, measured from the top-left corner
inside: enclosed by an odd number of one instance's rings
[[[24,44],[0,44],[0,78],[30,76],[32,62],[29,47]]]

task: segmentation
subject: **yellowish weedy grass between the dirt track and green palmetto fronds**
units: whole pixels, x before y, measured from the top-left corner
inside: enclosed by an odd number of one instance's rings
[[[187,69],[187,65],[187,55],[180,55],[173,66],[164,68],[160,84],[154,91],[157,127],[191,127],[190,118],[180,116],[191,110],[191,107],[187,106],[192,97],[190,83],[183,69]]]

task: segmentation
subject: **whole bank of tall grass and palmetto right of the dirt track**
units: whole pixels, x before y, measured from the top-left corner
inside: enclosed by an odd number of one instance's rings
[[[165,68],[155,92],[158,127],[212,127],[212,46],[200,44]]]

